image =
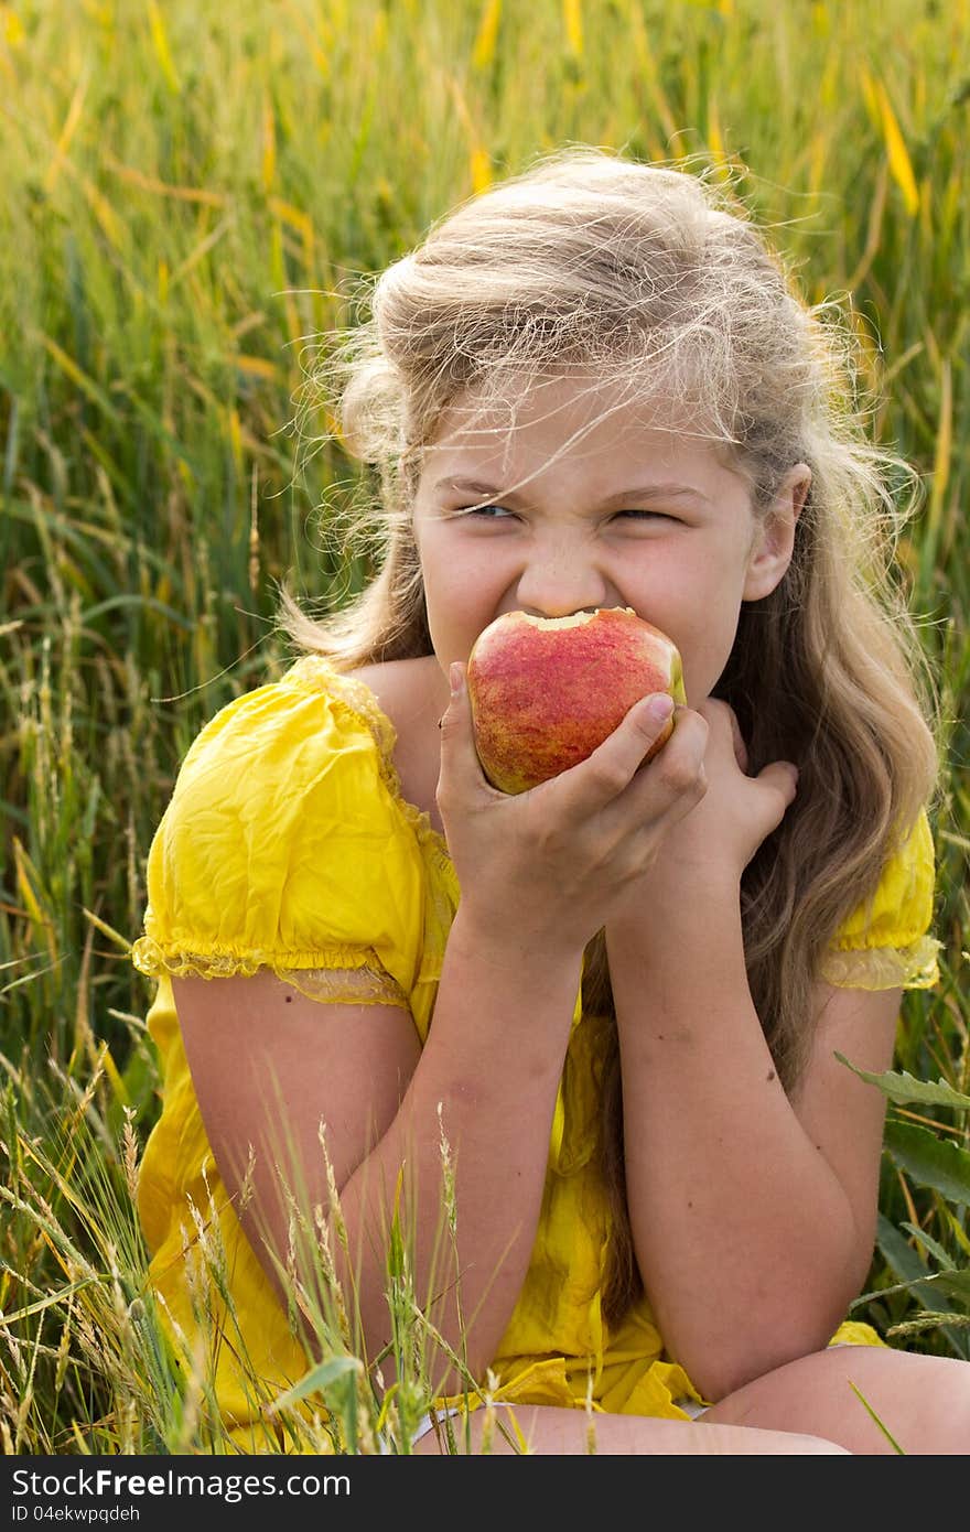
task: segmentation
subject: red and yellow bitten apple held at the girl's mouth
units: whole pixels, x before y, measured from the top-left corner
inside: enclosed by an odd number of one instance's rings
[[[467,688],[481,768],[503,792],[527,792],[585,760],[641,697],[667,691],[687,702],[676,645],[631,607],[507,611],[478,634]],[[645,760],[671,731],[673,719]]]

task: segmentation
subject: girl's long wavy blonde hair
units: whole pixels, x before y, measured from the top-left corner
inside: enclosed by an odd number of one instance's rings
[[[835,305],[800,299],[726,185],[590,147],[546,155],[460,205],[375,279],[369,305],[365,323],[331,339],[303,403],[334,411],[345,446],[377,469],[380,573],[325,620],[280,591],[293,643],[342,668],[432,653],[411,506],[423,449],[470,391],[483,408],[509,404],[541,374],[576,369],[674,398],[734,453],[760,513],[786,469],[811,467],[791,567],[742,608],[716,689],[752,772],[800,766],[797,800],[742,882],[749,988],[791,1089],[826,944],[938,784],[933,679],[893,578],[918,480],[866,440],[849,326]],[[584,1003],[614,1017],[602,933],[587,948]],[[604,1307],[618,1318],[639,1276],[614,1026],[611,1037]]]

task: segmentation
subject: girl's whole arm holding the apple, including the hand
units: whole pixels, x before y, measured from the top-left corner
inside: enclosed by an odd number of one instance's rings
[[[389,1336],[395,1203],[414,1242],[418,1304],[440,1295],[431,1319],[458,1351],[469,1337],[475,1376],[495,1356],[538,1226],[584,947],[700,791],[696,715],[679,731],[677,784],[633,783],[660,728],[631,709],[582,766],[510,798],[481,775],[467,696],[452,700],[438,804],[461,905],[423,1049],[394,1007],[319,1005],[267,974],[176,980],[202,1118],[231,1193],[242,1190],[250,1143],[256,1149],[244,1218],[271,1275],[274,1258],[285,1262],[290,1223],[276,1164],[305,1187],[306,1206],[326,1209],[326,1124],[348,1256],[331,1242],[348,1291],[354,1273],[371,1359]],[[455,1169],[457,1253],[443,1229],[441,1131]]]

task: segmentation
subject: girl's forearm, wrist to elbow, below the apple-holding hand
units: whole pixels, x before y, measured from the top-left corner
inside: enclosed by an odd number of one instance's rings
[[[389,1333],[386,1249],[401,1167],[415,1299],[424,1307],[435,1295],[429,1318],[472,1374],[495,1356],[535,1241],[581,965],[582,951],[495,950],[458,912],[401,1109],[340,1193],[371,1356]],[[454,1238],[440,1132],[454,1170]],[[463,1379],[451,1374],[447,1386]]]

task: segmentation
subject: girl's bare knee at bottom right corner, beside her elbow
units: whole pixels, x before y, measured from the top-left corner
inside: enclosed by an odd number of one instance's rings
[[[855,1454],[893,1452],[852,1385],[903,1452],[970,1452],[970,1362],[889,1347],[838,1345],[746,1383],[700,1425],[818,1432]]]

